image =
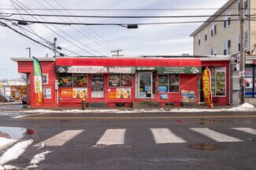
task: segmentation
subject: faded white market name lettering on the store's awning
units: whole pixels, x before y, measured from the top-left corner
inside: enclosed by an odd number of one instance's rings
[[[135,67],[64,66],[56,67],[58,73],[135,74]]]

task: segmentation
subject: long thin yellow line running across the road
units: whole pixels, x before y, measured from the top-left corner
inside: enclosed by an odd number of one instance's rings
[[[32,115],[32,114],[30,114]],[[28,116],[30,116],[28,115]],[[28,117],[27,116],[27,117]],[[256,115],[239,116],[164,116],[164,117],[31,117],[23,119],[167,119],[167,118],[256,118]]]

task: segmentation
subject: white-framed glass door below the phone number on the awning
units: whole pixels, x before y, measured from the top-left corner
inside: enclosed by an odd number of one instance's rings
[[[152,73],[151,72],[139,72],[139,98],[152,98]]]

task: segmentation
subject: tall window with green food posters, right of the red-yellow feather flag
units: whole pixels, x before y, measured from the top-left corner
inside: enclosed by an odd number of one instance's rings
[[[210,67],[212,96],[226,96],[226,67]]]

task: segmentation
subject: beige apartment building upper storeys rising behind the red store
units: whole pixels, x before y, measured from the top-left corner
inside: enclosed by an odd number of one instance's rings
[[[229,0],[190,36],[194,55],[233,55],[240,51],[240,0]],[[256,54],[256,1],[244,0],[244,47]]]

